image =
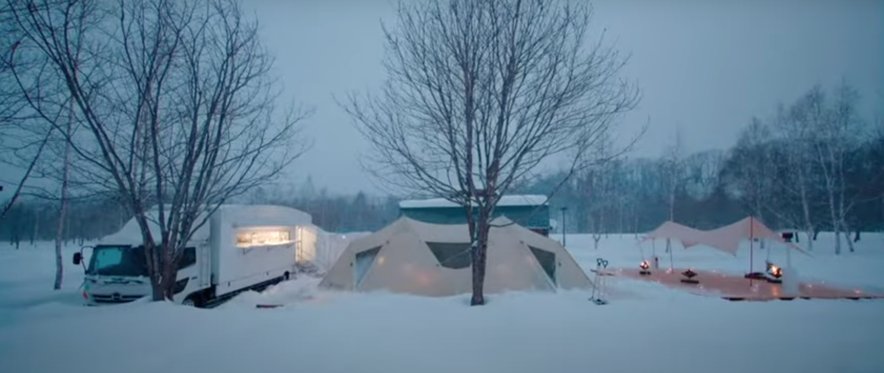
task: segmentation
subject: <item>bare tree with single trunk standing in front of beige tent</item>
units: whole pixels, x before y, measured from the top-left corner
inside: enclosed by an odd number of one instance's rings
[[[638,101],[626,58],[587,41],[591,8],[552,0],[400,2],[384,28],[379,95],[344,106],[388,186],[461,205],[472,238],[473,296],[484,304],[490,219],[503,194],[547,161],[566,178]],[[616,152],[614,152],[616,153]]]

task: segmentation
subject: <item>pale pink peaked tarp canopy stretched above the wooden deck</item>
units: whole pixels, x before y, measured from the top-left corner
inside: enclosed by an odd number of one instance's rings
[[[743,240],[765,239],[780,242],[781,244],[807,254],[800,247],[786,242],[782,237],[773,232],[755,217],[745,217],[731,225],[725,225],[711,231],[701,231],[668,221],[657,229],[644,236],[642,241],[669,239],[682,242],[685,248],[695,246],[708,246],[717,248],[725,253],[736,255]]]

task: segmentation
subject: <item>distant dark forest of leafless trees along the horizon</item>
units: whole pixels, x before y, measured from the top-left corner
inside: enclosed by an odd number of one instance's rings
[[[816,87],[771,118],[751,118],[735,146],[684,154],[679,136],[657,158],[623,156],[582,171],[550,199],[552,219],[568,209],[568,232],[647,232],[673,220],[700,229],[747,215],[773,228],[802,232],[884,230],[884,125],[858,118],[856,94]],[[550,194],[554,171],[525,180],[510,194]],[[393,196],[332,194],[308,178],[258,187],[244,203],[302,209],[329,232],[375,231],[399,216]],[[57,202],[22,199],[3,222],[0,240],[52,240]],[[91,240],[128,220],[112,198],[74,200],[66,240]]]

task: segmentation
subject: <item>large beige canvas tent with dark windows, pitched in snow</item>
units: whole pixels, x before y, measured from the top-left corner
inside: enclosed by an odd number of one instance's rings
[[[592,283],[564,247],[515,225],[494,221],[488,239],[485,293],[508,290],[591,289]],[[427,296],[471,292],[467,225],[433,225],[401,217],[354,240],[319,286]]]

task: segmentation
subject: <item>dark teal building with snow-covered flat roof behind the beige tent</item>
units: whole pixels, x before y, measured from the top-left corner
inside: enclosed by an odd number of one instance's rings
[[[431,224],[466,224],[463,208],[444,198],[399,202],[400,217]],[[507,217],[518,225],[548,236],[550,232],[549,202],[545,195],[504,195],[500,197],[492,219]]]

